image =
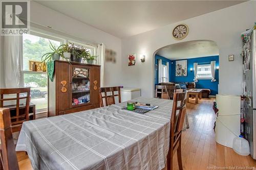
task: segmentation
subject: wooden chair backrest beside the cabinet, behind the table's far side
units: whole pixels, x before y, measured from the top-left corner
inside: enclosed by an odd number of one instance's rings
[[[111,92],[111,94],[109,94]],[[115,94],[115,92],[118,92]],[[102,93],[104,95],[102,95]],[[109,106],[115,104],[115,96],[118,96],[118,102],[121,103],[121,91],[120,86],[117,87],[100,87],[99,88],[99,99],[100,107]],[[104,99],[104,102],[103,102]]]

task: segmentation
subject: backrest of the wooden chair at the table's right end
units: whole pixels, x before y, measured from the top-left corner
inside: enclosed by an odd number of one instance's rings
[[[170,117],[170,147],[172,147],[173,150],[177,149],[176,145],[179,143],[178,141],[181,137],[186,114],[186,99],[187,90],[174,93],[173,110]]]

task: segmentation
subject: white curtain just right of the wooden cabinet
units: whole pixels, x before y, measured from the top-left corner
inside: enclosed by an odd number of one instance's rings
[[[104,87],[104,62],[105,62],[105,45],[103,43],[97,45],[96,50],[97,64],[100,67],[100,87]]]

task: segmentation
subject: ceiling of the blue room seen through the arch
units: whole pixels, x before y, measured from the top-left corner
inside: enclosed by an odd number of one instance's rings
[[[156,54],[170,60],[179,60],[216,56],[219,55],[219,48],[215,41],[195,40],[165,46]]]

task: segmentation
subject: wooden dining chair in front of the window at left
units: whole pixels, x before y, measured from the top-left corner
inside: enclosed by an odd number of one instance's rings
[[[16,98],[8,97],[6,94],[15,94]],[[24,94],[24,95],[22,95]],[[24,114],[19,113],[20,101],[26,99]],[[16,114],[11,115],[11,127],[12,132],[18,132],[22,129],[24,121],[29,120],[29,100],[30,100],[30,87],[27,88],[1,88],[0,89],[0,107],[8,108],[4,106],[4,101],[16,101]]]

